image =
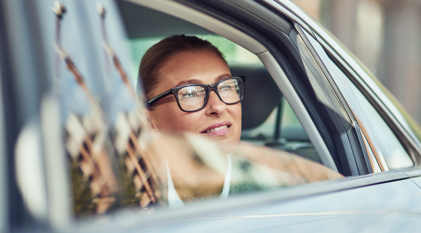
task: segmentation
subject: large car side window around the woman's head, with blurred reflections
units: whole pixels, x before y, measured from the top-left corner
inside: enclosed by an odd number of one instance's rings
[[[63,192],[65,197],[54,199],[69,199],[69,215],[75,219],[122,208],[148,214],[343,178],[320,163],[296,115],[255,54],[195,24],[133,3],[118,1],[119,8],[106,0],[60,4],[53,5],[56,19],[50,19],[48,29],[55,32],[48,34],[55,41],[51,45],[55,50],[49,51],[56,58],[51,59],[51,98],[60,114],[59,123],[49,127],[60,129],[54,137],[62,144],[45,147],[62,146],[69,190]],[[131,18],[139,15],[157,20]],[[241,102],[242,141],[234,149],[150,128],[137,83],[140,59],[171,34],[212,42],[224,53],[232,75],[247,77],[247,94]],[[62,164],[54,165],[50,167]]]

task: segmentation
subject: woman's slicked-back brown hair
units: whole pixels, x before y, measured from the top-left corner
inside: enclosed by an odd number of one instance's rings
[[[173,35],[157,42],[149,48],[142,57],[139,66],[138,83],[143,84],[147,100],[154,88],[161,82],[161,67],[170,58],[184,52],[198,52],[202,50],[214,51],[226,64],[224,55],[207,40],[196,36]]]

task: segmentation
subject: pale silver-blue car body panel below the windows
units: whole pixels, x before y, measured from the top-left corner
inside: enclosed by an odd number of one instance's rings
[[[119,221],[119,225],[127,232],[136,229],[153,232],[416,232],[415,224],[421,216],[421,189],[412,180],[405,179],[223,211],[186,214],[188,209],[180,211],[184,216],[140,220],[141,223],[126,219]],[[108,227],[112,229],[115,225]],[[105,229],[99,228],[99,231]]]

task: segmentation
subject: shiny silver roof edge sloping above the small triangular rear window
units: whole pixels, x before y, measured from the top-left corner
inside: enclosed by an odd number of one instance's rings
[[[330,34],[320,23],[312,19],[294,3],[288,0],[263,0],[278,11],[288,16],[292,21],[299,24],[320,43],[322,48],[332,61],[344,71],[346,76],[357,86],[361,93],[368,99],[381,117],[386,121],[392,132],[397,136],[402,146],[414,162],[414,168],[421,162],[421,142],[415,132],[410,128],[405,116],[388,90],[376,79],[376,77],[361,63],[352,53],[339,42],[333,34]],[[308,45],[309,42],[307,41]],[[311,47],[311,45],[309,45]],[[324,65],[322,65],[324,66]],[[410,168],[413,169],[413,168]],[[420,172],[421,174],[421,172]]]

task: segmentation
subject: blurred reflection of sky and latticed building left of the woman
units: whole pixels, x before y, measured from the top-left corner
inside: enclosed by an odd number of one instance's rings
[[[63,4],[56,2],[53,8],[57,16],[55,47],[61,58],[56,60],[55,91],[61,103],[61,124],[76,218],[104,214],[120,207],[152,206],[161,200],[157,188],[160,181],[149,161],[142,156],[141,142],[147,138],[144,115],[139,107],[142,104],[117,53],[109,45],[105,9],[100,3],[97,7],[104,36],[103,52],[108,59],[104,62],[108,71],[105,79],[113,84],[106,95],[101,88],[92,88],[103,87],[103,83],[90,79],[86,70],[76,66],[82,63],[80,59],[73,61],[68,55],[79,55],[77,46],[71,46],[79,41],[61,37],[61,34],[69,33],[73,18],[62,20],[66,17]],[[95,12],[96,8],[92,10]],[[82,56],[76,57],[86,56],[81,53]]]

